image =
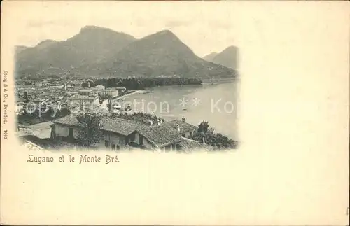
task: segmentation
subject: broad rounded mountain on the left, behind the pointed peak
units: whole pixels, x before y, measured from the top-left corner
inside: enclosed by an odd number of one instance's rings
[[[135,38],[111,29],[87,26],[66,41],[43,41],[17,56],[17,70],[37,72],[50,67],[69,71],[81,64],[92,64],[118,52]]]

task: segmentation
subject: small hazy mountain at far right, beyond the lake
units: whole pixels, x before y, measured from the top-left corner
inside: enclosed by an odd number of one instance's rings
[[[211,54],[203,57],[203,59],[237,70],[239,66],[238,53],[238,48],[234,45],[230,45],[228,48],[225,48],[225,50],[223,50],[222,52],[212,52]]]

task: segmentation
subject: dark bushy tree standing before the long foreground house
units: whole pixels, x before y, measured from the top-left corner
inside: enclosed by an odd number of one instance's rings
[[[76,115],[78,120],[78,142],[85,147],[98,143],[103,134],[101,131],[102,116],[99,113],[83,112]]]

